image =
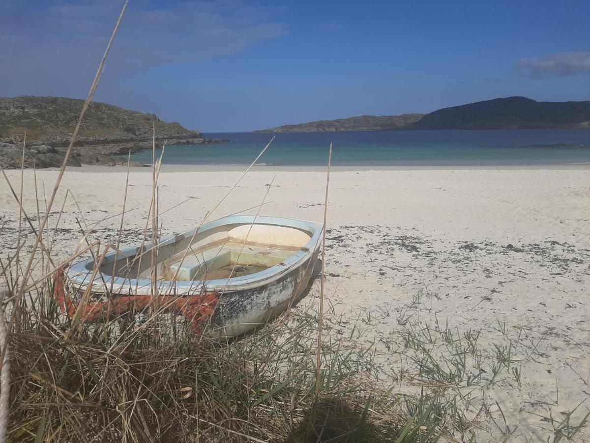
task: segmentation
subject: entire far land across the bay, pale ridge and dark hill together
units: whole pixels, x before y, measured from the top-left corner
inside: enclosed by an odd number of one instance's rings
[[[429,114],[361,116],[285,125],[256,132],[392,131],[395,129],[590,129],[590,102],[536,102],[526,97],[486,100]]]

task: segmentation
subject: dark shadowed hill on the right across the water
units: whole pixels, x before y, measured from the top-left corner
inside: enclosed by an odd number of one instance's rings
[[[590,102],[536,102],[526,97],[439,109],[408,129],[590,129]]]

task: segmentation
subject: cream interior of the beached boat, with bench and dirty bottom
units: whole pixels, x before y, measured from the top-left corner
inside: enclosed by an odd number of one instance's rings
[[[124,278],[153,277],[170,281],[203,281],[251,275],[281,265],[299,250],[305,250],[313,233],[296,227],[264,223],[224,224],[162,239],[156,254],[150,243],[117,254],[100,272]],[[113,264],[114,262],[114,264]]]

